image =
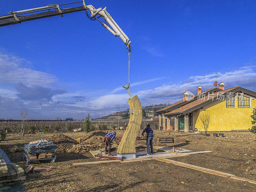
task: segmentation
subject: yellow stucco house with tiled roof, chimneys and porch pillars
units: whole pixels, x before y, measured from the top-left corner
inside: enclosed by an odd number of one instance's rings
[[[159,129],[170,125],[174,117],[175,131],[203,131],[200,115],[204,111],[211,115],[208,131],[248,130],[252,127],[252,108],[256,107],[256,92],[236,86],[224,89],[224,83],[207,91],[189,97],[183,93],[183,100],[156,111],[159,115]]]

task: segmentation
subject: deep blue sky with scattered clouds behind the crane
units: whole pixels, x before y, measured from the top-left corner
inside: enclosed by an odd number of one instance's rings
[[[0,15],[70,3],[0,1]],[[174,103],[213,87],[256,91],[255,1],[86,1],[107,11],[130,38],[131,91],[142,106]],[[74,4],[74,6],[81,6]],[[60,8],[67,8],[67,5]],[[0,28],[0,118],[92,118],[129,108],[128,51],[84,12]]]

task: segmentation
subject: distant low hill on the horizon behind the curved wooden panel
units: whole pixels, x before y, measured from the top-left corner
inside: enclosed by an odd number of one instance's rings
[[[162,109],[166,106],[170,105],[170,103],[168,104],[159,104],[159,105],[151,105],[151,106],[146,106],[146,107],[143,107],[142,108],[142,111],[144,110],[145,113],[148,113],[150,111],[154,111],[156,112],[157,110],[159,109]],[[129,109],[127,110],[124,110],[124,111],[120,111],[119,113],[119,117],[121,118],[122,115],[126,114],[126,113],[129,113]],[[143,112],[142,112],[143,113]],[[107,116],[103,116],[103,117],[99,117],[99,118],[95,118],[94,120],[97,120],[97,119],[116,119],[118,118],[118,112],[115,112],[113,114],[110,114],[110,115],[107,115]],[[129,116],[127,117],[129,118]],[[149,118],[149,117],[148,117]],[[151,118],[151,117],[150,117]]]

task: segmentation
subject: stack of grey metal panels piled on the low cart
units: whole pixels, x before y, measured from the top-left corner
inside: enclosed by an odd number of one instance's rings
[[[55,153],[57,150],[57,145],[55,145],[52,141],[40,139],[40,140],[26,143],[23,149],[27,154],[51,153],[51,152]]]

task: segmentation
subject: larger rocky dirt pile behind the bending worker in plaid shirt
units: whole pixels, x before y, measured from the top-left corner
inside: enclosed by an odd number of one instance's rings
[[[95,151],[105,147],[105,143],[102,142],[102,138],[107,134],[103,131],[93,131],[84,135],[84,137],[78,138],[76,141],[79,143],[76,147],[68,150],[69,153],[86,153],[88,151]],[[116,138],[113,140],[113,145],[119,145],[119,140]]]

